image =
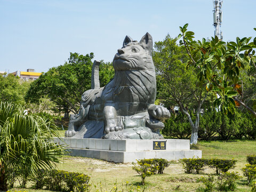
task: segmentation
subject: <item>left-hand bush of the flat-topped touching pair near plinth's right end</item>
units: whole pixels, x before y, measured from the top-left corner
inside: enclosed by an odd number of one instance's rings
[[[180,160],[185,169],[185,173],[199,174],[200,170],[207,164],[207,159],[204,158],[183,158]]]

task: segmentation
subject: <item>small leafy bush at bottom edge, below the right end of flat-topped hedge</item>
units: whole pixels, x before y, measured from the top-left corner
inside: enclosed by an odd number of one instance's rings
[[[241,178],[238,172],[225,172],[221,173],[218,177],[218,189],[221,191],[234,191],[236,188],[235,182],[237,179]]]

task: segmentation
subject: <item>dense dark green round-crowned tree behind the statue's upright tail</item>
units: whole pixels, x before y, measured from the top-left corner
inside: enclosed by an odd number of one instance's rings
[[[78,113],[81,95],[91,89],[92,59],[93,53],[70,53],[68,62],[49,69],[31,84],[26,101],[38,103],[41,98],[49,97],[57,106],[56,112],[65,113],[64,118],[68,118],[70,111]],[[102,86],[114,76],[110,65],[101,62],[99,76]]]

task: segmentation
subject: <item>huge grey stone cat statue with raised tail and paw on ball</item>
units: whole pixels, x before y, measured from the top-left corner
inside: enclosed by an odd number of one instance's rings
[[[140,42],[126,36],[113,60],[114,78],[99,86],[99,64],[94,61],[92,89],[83,93],[79,113],[70,116],[66,137],[102,139],[163,139],[159,121],[170,118],[156,99],[155,66],[150,34]]]

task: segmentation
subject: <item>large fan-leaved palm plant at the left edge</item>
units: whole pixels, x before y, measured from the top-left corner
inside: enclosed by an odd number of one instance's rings
[[[38,169],[51,169],[63,149],[55,145],[57,129],[44,118],[24,115],[19,105],[0,103],[0,190],[7,190],[7,177],[17,173],[23,186]]]

